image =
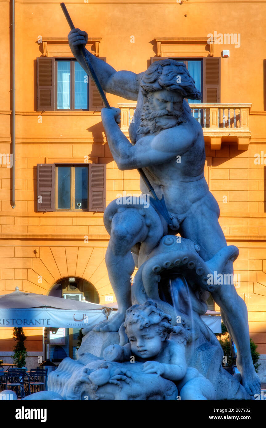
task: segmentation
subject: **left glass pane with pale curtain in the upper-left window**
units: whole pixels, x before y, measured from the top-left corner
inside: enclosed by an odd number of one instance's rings
[[[57,61],[57,108],[70,109],[70,61]]]

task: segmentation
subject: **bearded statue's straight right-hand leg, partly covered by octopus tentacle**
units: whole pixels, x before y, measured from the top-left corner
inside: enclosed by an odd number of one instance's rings
[[[211,259],[221,248],[227,246],[221,226],[218,223],[218,204],[211,193],[200,203],[195,204],[182,222],[180,235],[189,238],[200,246],[200,256],[204,261]],[[233,273],[233,263],[229,260],[224,272]],[[237,367],[242,384],[251,395],[260,389],[260,380],[255,372],[251,358],[248,311],[244,300],[237,294],[233,284],[221,285],[212,293],[221,308],[221,315],[237,349]]]

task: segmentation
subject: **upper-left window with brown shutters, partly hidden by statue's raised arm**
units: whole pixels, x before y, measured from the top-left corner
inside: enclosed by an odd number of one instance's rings
[[[99,111],[102,107],[98,89],[75,59],[37,58],[37,111]]]

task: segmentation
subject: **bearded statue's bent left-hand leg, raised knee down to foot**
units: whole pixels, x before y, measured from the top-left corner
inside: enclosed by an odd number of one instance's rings
[[[105,262],[118,311],[110,321],[97,324],[94,331],[118,331],[123,323],[126,309],[131,306],[131,275],[135,267],[130,249],[137,242],[145,241],[148,232],[145,217],[136,208],[114,214]]]

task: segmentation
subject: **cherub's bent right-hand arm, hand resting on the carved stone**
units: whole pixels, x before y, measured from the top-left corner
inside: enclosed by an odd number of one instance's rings
[[[181,380],[187,371],[185,361],[185,348],[173,342],[169,342],[170,363],[159,363],[158,361],[147,361],[143,364],[144,373],[157,373],[159,376],[169,380]]]

